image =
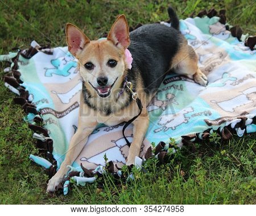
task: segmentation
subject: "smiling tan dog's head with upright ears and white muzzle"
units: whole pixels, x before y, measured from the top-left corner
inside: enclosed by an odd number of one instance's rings
[[[71,23],[66,26],[66,36],[68,50],[79,60],[81,76],[92,95],[105,98],[120,88],[127,70],[125,49],[130,44],[125,15],[115,20],[106,39],[90,41]]]

